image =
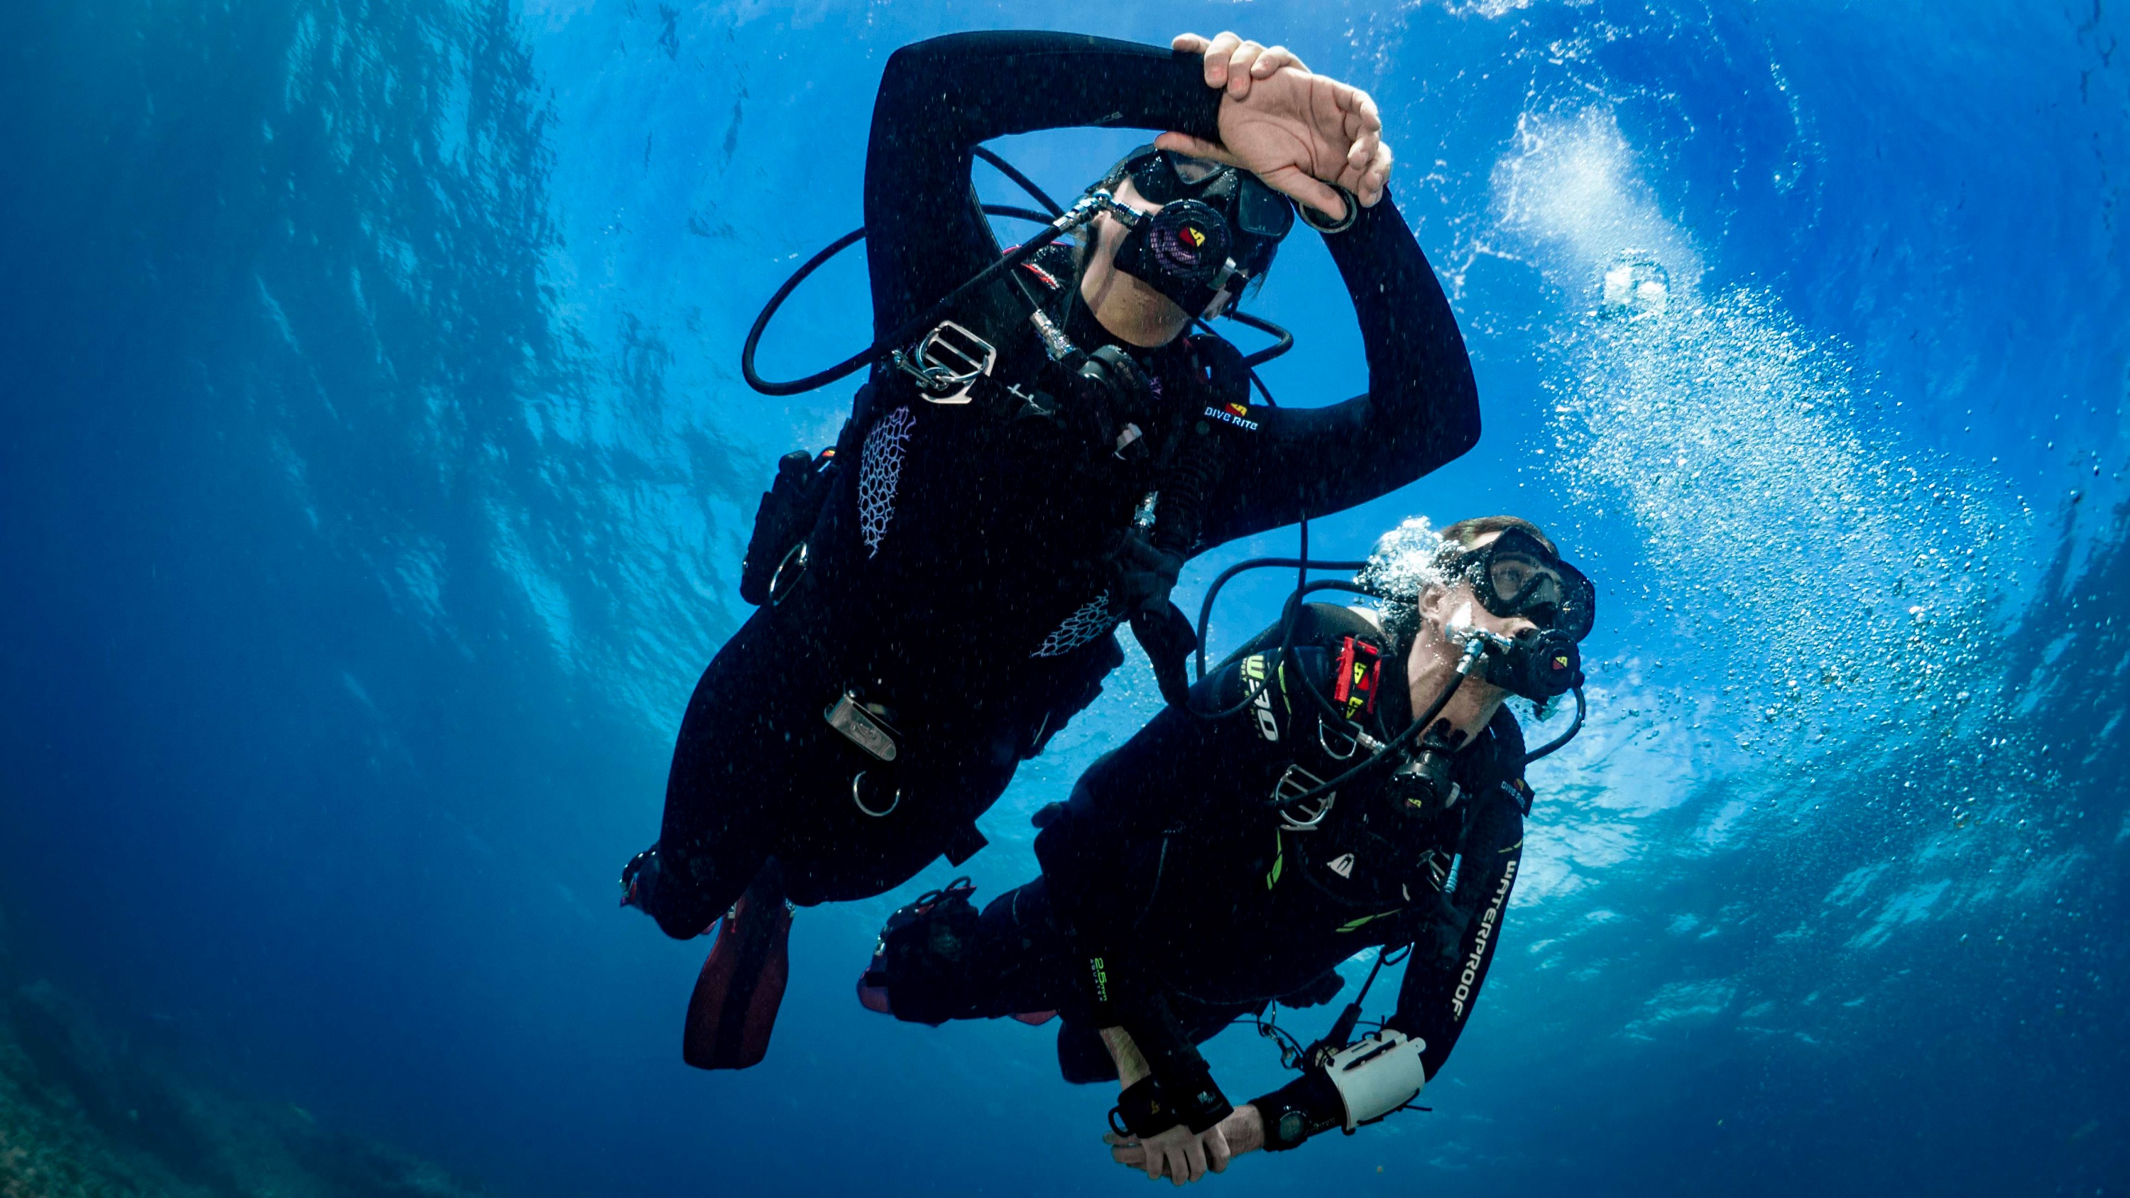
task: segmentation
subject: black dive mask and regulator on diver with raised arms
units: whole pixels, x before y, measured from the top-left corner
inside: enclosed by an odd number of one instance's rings
[[[1125,162],[1133,190],[1163,205],[1125,234],[1116,269],[1214,318],[1272,266],[1295,205],[1257,175],[1144,147]]]

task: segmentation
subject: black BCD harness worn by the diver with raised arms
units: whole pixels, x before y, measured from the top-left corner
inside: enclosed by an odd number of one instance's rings
[[[1152,377],[1120,347],[1082,352],[1061,330],[1063,311],[1078,303],[1071,281],[1063,247],[1010,273],[1010,290],[1018,301],[1014,307],[1027,313],[1033,343],[1029,330],[1014,337],[993,333],[1003,313],[995,311],[990,320],[956,313],[990,337],[948,318],[897,350],[892,365],[875,367],[833,450],[820,456],[801,450],[777,463],[775,484],[763,495],[741,565],[741,597],[782,605],[809,565],[818,565],[809,563],[816,554],[809,539],[837,488],[837,473],[858,469],[861,446],[890,414],[905,411],[901,420],[914,416],[918,422],[982,420],[999,437],[1063,433],[1065,443],[1082,446],[1101,469],[1120,471],[1144,486],[1133,520],[1110,533],[1099,563],[1086,561],[1080,569],[1099,569],[1108,580],[1108,612],[1131,622],[1154,665],[1163,697],[1182,703],[1189,689],[1184,661],[1197,642],[1191,620],[1176,610],[1169,593],[1182,561],[1197,548],[1206,501],[1220,480],[1223,441],[1235,435],[1233,424],[1250,426],[1250,369],[1233,345],[1210,335],[1189,337],[1165,350],[1182,360],[1163,362],[1167,369]],[[1163,394],[1163,379],[1169,390],[1182,390],[1180,382],[1191,394]],[[1216,418],[1218,414],[1227,416]],[[856,618],[869,618],[867,608]],[[884,637],[846,629],[837,640],[867,646],[882,644]],[[1039,752],[1065,718],[1093,701],[1101,676],[1120,661],[1114,646],[1082,650],[1082,657],[1091,652],[1095,659],[1078,669],[1086,678],[1065,678],[1056,684],[1061,693],[1044,699],[1039,721],[1025,729],[1022,757]],[[901,787],[892,774],[903,757],[905,733],[897,723],[914,729],[922,721],[892,695],[890,669],[863,661],[846,667],[852,682],[824,697],[824,721],[867,759],[852,778],[852,804],[867,816],[888,816],[901,806]],[[882,682],[882,676],[888,680]],[[858,678],[873,682],[863,684]],[[980,844],[971,825],[954,833],[948,857],[958,863]]]

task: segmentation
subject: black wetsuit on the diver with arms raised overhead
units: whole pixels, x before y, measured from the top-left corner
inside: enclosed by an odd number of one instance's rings
[[[1218,104],[1199,55],[1103,38],[956,34],[897,51],[865,175],[875,330],[997,260],[969,183],[978,143],[1101,124],[1212,139]],[[973,403],[927,403],[875,367],[805,571],[726,642],[688,703],[658,876],[641,895],[660,927],[703,932],[771,855],[792,902],[814,904],[888,891],[982,846],[973,821],[1018,761],[1123,661],[1103,558],[1146,492],[1184,490],[1178,460],[1197,471],[1189,554],[1374,499],[1476,441],[1463,341],[1397,209],[1387,198],[1325,239],[1370,367],[1367,394],[1331,407],[1248,407],[1231,384],[1214,388],[1208,347],[1178,339],[1133,354],[1159,403],[1135,416],[1154,450],[1127,460],[1069,405],[1014,416],[1020,392],[1005,388],[1037,379],[1046,358],[1007,284],[954,313],[999,352]],[[1065,271],[1050,303],[1093,352],[1108,335]],[[892,712],[892,765],[824,723],[843,693]]]

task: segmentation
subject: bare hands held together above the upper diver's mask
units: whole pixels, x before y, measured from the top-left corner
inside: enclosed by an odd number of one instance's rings
[[[1165,132],[1154,145],[1250,171],[1333,220],[1344,220],[1346,203],[1327,183],[1353,192],[1361,207],[1382,200],[1391,147],[1367,92],[1312,75],[1284,47],[1265,49],[1235,34],[1210,43],[1182,34],[1172,45],[1203,53],[1206,83],[1227,90],[1220,143]]]

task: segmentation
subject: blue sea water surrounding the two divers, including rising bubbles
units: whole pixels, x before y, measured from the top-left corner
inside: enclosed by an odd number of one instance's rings
[[[1478,450],[1316,550],[1512,509],[1602,627],[1433,1113],[1208,1185],[2130,1189],[2130,17],[2100,0],[11,0],[9,940],[501,1194],[1133,1183],[1048,1030],[852,1002],[944,865],[799,912],[743,1074],[679,1064],[705,944],[613,876],[743,616],[769,465],[848,403],[754,396],[737,345],[858,222],[886,55],[1231,23],[1380,100],[1485,403]],[[1131,141],[999,149],[1071,192]],[[1306,241],[1259,301],[1301,339],[1291,403],[1363,379]],[[867,326],[850,256],[765,367]],[[1233,588],[1216,640],[1276,599]],[[982,893],[1154,703],[1127,665],[1020,772]],[[1246,1032],[1210,1055],[1276,1081]]]

